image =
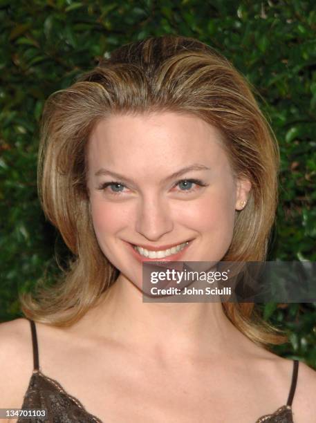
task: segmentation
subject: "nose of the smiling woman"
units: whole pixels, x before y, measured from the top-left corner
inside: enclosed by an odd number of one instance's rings
[[[136,232],[149,241],[158,241],[173,228],[174,222],[166,200],[142,198],[136,218]]]

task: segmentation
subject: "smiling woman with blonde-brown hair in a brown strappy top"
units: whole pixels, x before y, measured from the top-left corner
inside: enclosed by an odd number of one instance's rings
[[[243,77],[194,39],[123,46],[52,95],[40,197],[75,259],[21,298],[27,319],[1,324],[0,407],[51,422],[316,422],[315,371],[268,350],[286,338],[253,304],[142,302],[153,251],[265,259],[278,154]]]

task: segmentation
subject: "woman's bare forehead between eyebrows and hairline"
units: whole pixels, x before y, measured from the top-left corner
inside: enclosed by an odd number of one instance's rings
[[[219,130],[195,115],[111,115],[91,133],[89,169],[168,171],[192,162],[224,165],[227,158],[222,145]]]

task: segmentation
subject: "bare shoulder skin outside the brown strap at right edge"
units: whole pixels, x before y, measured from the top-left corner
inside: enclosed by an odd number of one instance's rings
[[[316,370],[302,361],[299,362],[292,411],[295,423],[316,423]]]

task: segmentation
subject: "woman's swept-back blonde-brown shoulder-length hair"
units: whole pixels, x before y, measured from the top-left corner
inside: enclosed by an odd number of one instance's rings
[[[252,183],[236,212],[223,261],[266,259],[277,207],[279,149],[248,82],[209,46],[164,36],[122,46],[75,84],[51,95],[39,148],[39,197],[44,213],[74,255],[62,279],[21,295],[30,319],[69,326],[97,303],[118,277],[93,232],[86,188],[86,144],[95,124],[113,113],[190,113],[221,131],[235,176]],[[234,326],[257,344],[286,341],[253,303],[223,303]]]

